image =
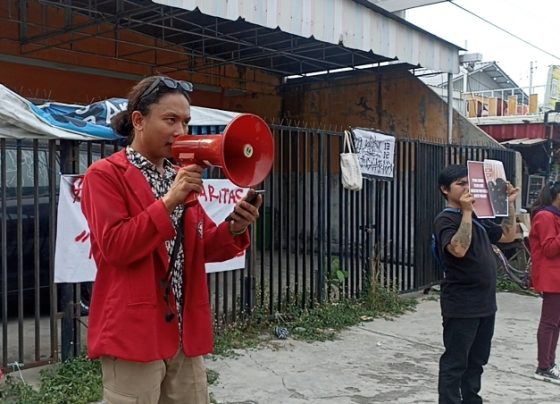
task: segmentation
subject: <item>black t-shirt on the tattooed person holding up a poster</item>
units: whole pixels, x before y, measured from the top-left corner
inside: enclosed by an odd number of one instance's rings
[[[445,267],[441,313],[443,317],[459,318],[490,316],[497,309],[497,262],[491,244],[502,237],[502,228],[473,216],[471,245],[463,258],[457,258],[446,247],[459,229],[461,218],[459,211],[443,211],[434,220],[434,233]]]

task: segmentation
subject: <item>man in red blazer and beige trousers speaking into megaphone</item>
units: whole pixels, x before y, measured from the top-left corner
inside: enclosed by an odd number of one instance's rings
[[[100,358],[103,397],[121,403],[208,403],[202,355],[213,336],[206,262],[249,245],[258,218],[240,200],[216,225],[198,202],[204,167],[177,168],[173,140],[187,133],[192,84],[165,76],[136,84],[113,128],[128,146],[88,169],[82,210],[91,231],[97,277],[88,355]]]

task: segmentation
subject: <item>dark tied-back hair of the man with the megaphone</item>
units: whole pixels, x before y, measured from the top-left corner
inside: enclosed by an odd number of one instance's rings
[[[163,85],[164,82],[162,79],[179,83],[167,76],[146,77],[132,87],[128,93],[128,106],[126,111],[119,112],[111,119],[111,126],[113,127],[113,130],[119,135],[126,136],[127,144],[131,144],[132,140],[134,140],[134,127],[132,126],[132,113],[134,111],[139,111],[142,115],[148,115],[150,112],[150,106],[152,104],[156,104],[161,97],[169,93],[183,94],[187,98],[187,101],[189,101],[189,103],[191,102],[190,95],[185,92],[181,86],[177,85],[175,88],[171,88],[167,85]],[[149,91],[145,94],[146,90],[150,88],[156,80],[159,80],[160,83],[154,88],[155,91]],[[190,85],[190,83],[188,84]]]

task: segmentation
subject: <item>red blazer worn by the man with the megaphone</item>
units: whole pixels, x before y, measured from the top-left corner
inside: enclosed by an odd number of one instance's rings
[[[88,323],[89,357],[138,362],[173,357],[179,348],[178,321],[177,316],[165,321],[168,306],[160,280],[169,265],[165,240],[175,237],[175,230],[165,205],[155,199],[124,150],[88,169],[82,210],[97,264]],[[233,237],[228,223],[216,226],[199,204],[186,210],[183,350],[187,356],[213,348],[204,264],[241,253],[249,245],[247,233]],[[170,304],[176,311],[173,299]]]

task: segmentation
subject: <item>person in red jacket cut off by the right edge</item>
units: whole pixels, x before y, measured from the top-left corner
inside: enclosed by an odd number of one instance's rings
[[[560,384],[556,346],[560,333],[560,182],[545,185],[531,208],[531,280],[542,294],[535,379]]]

